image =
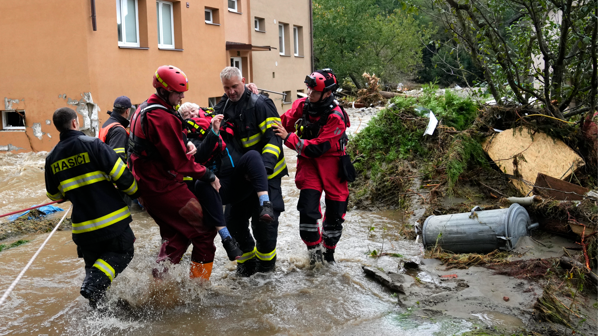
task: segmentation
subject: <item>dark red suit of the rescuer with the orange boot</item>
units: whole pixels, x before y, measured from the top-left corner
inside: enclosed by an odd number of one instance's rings
[[[142,124],[142,108],[156,104],[163,105],[164,109],[149,110]],[[140,147],[143,151],[138,148],[137,152],[135,145],[132,146],[131,168],[141,192],[139,199],[160,227],[164,243],[157,262],[169,259],[178,264],[188,246],[193,244],[191,261],[211,264],[216,251],[213,244],[216,230],[211,225],[203,225],[202,207],[183,179],[184,176],[202,179],[212,173],[196,163],[193,155],[186,154],[187,139],[182,121],[173,112],[172,105],[156,94],[135,111],[131,136],[141,138],[148,146]],[[157,272],[154,270],[154,276]]]

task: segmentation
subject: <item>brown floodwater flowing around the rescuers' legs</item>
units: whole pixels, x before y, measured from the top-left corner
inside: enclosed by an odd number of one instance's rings
[[[392,211],[347,212],[337,264],[310,267],[295,209],[299,193],[294,152],[285,151],[290,176],[282,181],[286,212],[280,216],[274,273],[237,276],[235,262],[228,261],[216,237],[209,283],[188,278],[189,250],[181,264],[171,268],[173,280],[156,287],[151,268],[160,246],[158,227],[133,207],[135,257],[108,291],[112,303],[123,298],[131,308],[112,314],[91,310],[79,295],[83,259],[77,258],[71,233],[58,231],[0,307],[0,335],[452,335],[469,330],[471,323],[465,320],[409,322],[396,298],[363,273],[362,265],[397,270],[399,258],[367,256],[370,250],[380,251],[383,239],[385,252],[401,253],[405,259],[421,256],[420,244],[398,236],[399,222],[393,218],[400,216],[391,216]],[[0,213],[48,201],[44,157],[0,154]],[[376,229],[368,236],[371,226]],[[0,252],[2,293],[47,235],[7,240],[32,241]]]

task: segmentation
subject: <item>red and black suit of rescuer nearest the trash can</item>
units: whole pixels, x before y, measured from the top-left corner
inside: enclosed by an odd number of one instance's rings
[[[304,112],[305,101],[306,98],[295,100],[291,109],[281,117],[282,126],[289,132],[285,145],[299,154],[295,173],[295,185],[301,190],[297,203],[299,234],[308,248],[316,248],[322,243],[329,253],[333,253],[343,232],[349,198],[347,181],[339,176],[339,157],[344,154],[341,136],[350,124],[339,106],[333,106],[319,117],[312,117]],[[321,127],[311,127],[313,134],[307,136],[301,118],[309,118],[309,124]],[[325,124],[321,118],[327,118]],[[318,219],[322,218],[322,190],[326,193],[326,212],[321,233]]]

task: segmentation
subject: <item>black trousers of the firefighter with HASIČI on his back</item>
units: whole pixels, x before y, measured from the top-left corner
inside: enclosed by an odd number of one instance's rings
[[[102,242],[77,245],[77,254],[85,261],[85,279],[81,289],[91,289],[95,297],[103,295],[112,280],[124,271],[133,259],[133,242],[135,234],[127,225],[120,236]]]

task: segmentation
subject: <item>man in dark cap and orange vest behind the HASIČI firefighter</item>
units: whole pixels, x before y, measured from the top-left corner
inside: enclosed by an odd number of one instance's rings
[[[98,138],[110,146],[120,155],[124,162],[127,162],[127,151],[129,151],[129,109],[131,100],[127,96],[120,96],[114,100],[114,109],[108,111],[110,118],[102,125]]]

